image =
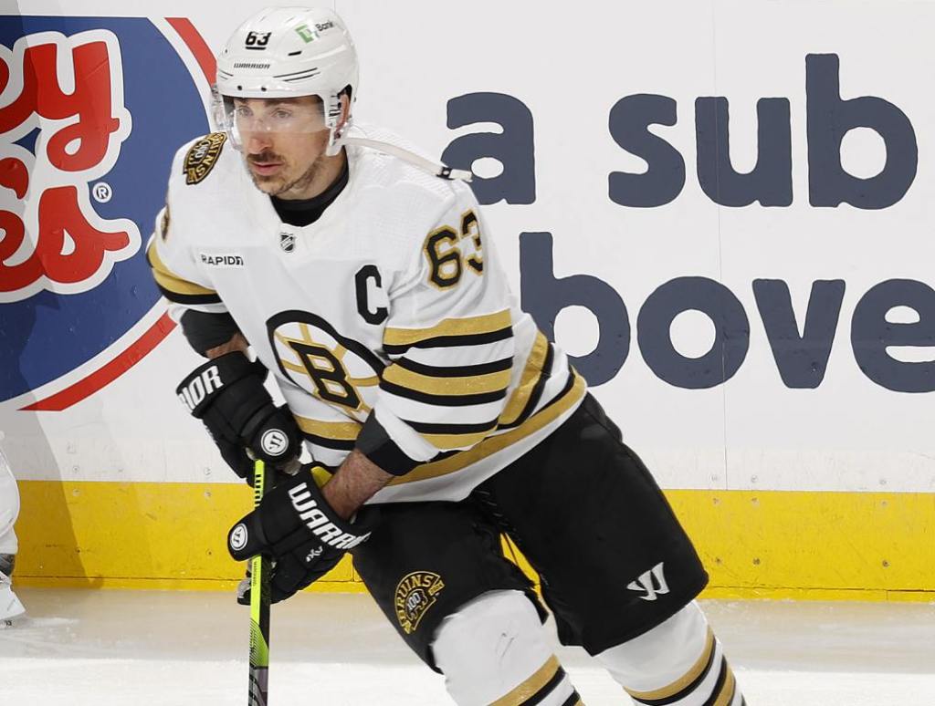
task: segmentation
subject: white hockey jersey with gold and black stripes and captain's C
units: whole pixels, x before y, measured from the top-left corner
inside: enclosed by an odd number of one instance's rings
[[[461,500],[554,431],[585,383],[512,296],[466,184],[347,154],[347,186],[295,227],[223,134],[181,148],[153,275],[179,307],[230,313],[315,459],[337,466],[367,424],[361,440],[385,439],[369,458],[414,466],[371,502]]]

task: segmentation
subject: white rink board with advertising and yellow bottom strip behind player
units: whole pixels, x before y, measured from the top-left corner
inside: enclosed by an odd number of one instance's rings
[[[213,56],[263,5],[3,6],[0,428],[36,581],[237,573],[249,497],[175,399],[199,359],[144,246],[210,130]],[[523,307],[715,590],[930,596],[935,8],[330,5],[355,119],[474,170]]]

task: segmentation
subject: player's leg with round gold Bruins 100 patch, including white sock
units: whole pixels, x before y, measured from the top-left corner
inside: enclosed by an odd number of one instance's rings
[[[574,706],[528,579],[466,503],[381,507],[354,566],[403,640],[445,676],[457,704]]]

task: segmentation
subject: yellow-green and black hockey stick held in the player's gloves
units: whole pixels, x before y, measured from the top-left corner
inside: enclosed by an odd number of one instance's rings
[[[253,507],[258,507],[266,491],[266,464],[253,463]],[[271,484],[269,484],[271,485]],[[248,706],[266,706],[269,699],[269,574],[268,557],[250,560],[250,693]]]

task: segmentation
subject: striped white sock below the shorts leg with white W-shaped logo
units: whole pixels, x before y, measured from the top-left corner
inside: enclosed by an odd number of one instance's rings
[[[638,704],[746,703],[721,643],[694,601],[661,625],[597,658]]]

